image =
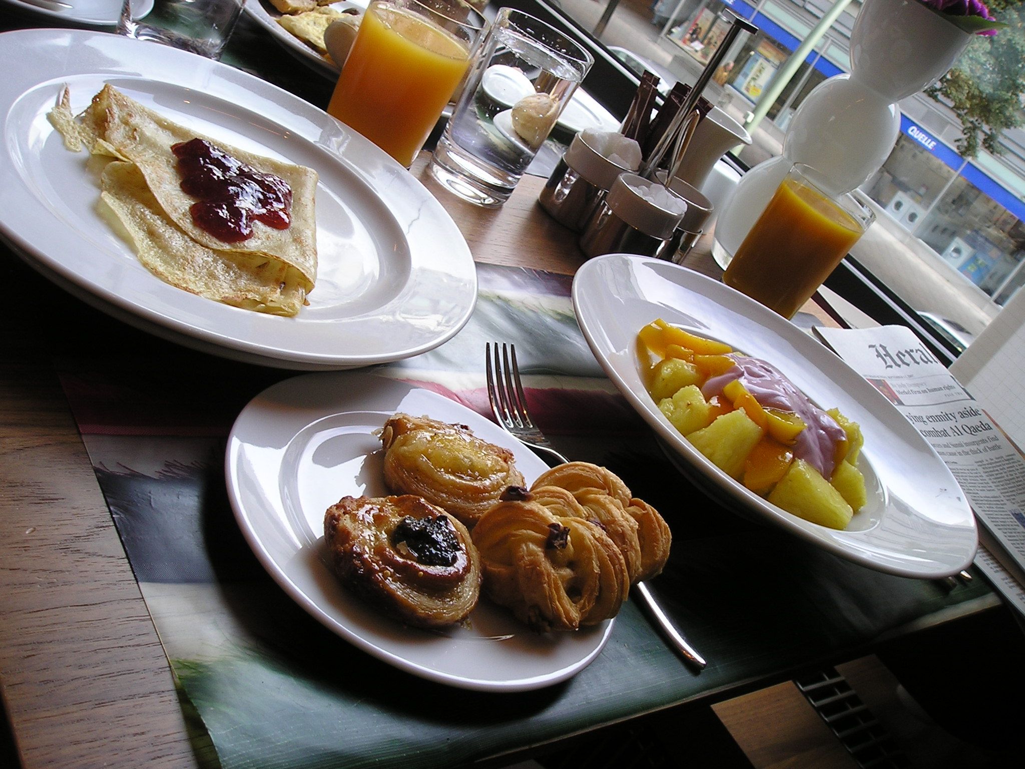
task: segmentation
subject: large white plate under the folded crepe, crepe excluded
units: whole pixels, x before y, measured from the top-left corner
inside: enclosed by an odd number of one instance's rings
[[[452,218],[405,168],[306,102],[202,56],[85,30],[4,33],[0,68],[0,235],[115,317],[204,352],[304,370],[418,355],[469,318],[477,273]],[[66,150],[46,114],[65,84],[78,112],[105,83],[215,140],[318,172],[318,278],[298,316],[174,288],[100,217],[102,161]]]

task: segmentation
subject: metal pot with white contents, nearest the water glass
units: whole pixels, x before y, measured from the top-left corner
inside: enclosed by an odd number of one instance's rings
[[[617,163],[600,152],[596,145],[608,138],[591,131],[574,136],[538,196],[552,218],[575,232],[580,232],[616,177],[637,169],[637,165],[631,168]],[[640,154],[640,147],[637,151]]]

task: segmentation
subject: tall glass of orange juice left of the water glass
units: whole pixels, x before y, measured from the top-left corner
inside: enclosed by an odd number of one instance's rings
[[[374,0],[328,114],[408,168],[462,81],[486,27],[463,0]]]

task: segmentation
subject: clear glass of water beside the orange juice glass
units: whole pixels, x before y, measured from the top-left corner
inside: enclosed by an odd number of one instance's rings
[[[435,148],[432,174],[471,203],[500,206],[593,60],[554,27],[502,8]]]

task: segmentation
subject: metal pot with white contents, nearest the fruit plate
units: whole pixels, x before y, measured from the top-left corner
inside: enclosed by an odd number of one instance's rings
[[[594,209],[580,236],[588,257],[638,253],[669,258],[680,246],[687,202],[657,181],[621,173]]]

